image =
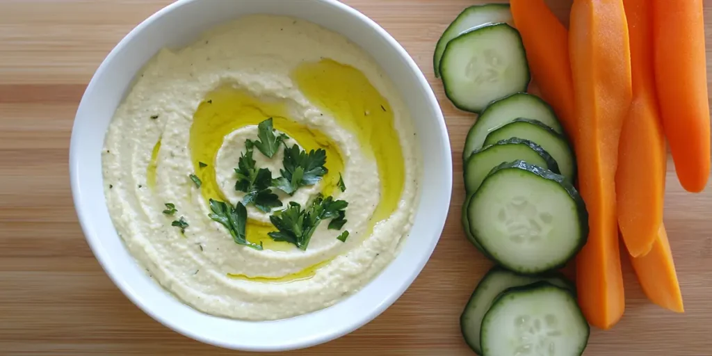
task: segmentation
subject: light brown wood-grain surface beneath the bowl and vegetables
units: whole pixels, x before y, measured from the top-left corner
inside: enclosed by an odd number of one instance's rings
[[[93,257],[70,197],[69,137],[85,85],[122,36],[169,2],[0,0],[0,355],[246,355],[189,340],[132,305]],[[430,80],[454,151],[452,204],[434,255],[397,303],[355,333],[287,355],[473,355],[458,318],[490,266],[459,222],[459,157],[474,117],[446,100],[431,56],[447,24],[478,1],[346,2],[392,33]],[[550,4],[566,19],[570,0]],[[712,355],[712,187],[687,194],[669,169],[665,222],[686,313],[648,303],[624,258],[624,318],[593,330],[585,355]]]

